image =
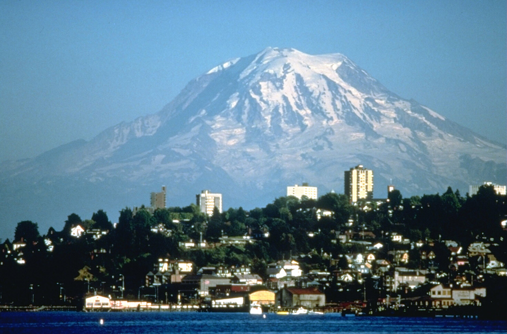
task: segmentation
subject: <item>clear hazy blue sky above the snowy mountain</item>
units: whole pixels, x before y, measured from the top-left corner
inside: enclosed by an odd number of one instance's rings
[[[0,161],[155,113],[266,47],[342,53],[392,92],[506,143],[506,2],[0,1]]]

